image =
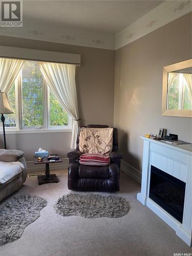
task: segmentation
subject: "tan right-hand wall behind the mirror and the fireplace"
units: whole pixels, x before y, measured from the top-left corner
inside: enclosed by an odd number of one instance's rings
[[[191,58],[191,13],[116,51],[114,126],[123,159],[141,169],[140,135],[159,128],[191,142],[191,118],[161,115],[163,67]]]

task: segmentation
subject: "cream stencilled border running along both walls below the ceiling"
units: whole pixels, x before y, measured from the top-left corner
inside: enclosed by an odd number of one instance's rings
[[[24,20],[24,27],[0,27],[0,35],[59,44],[117,50],[191,11],[191,0],[165,1],[116,35]]]

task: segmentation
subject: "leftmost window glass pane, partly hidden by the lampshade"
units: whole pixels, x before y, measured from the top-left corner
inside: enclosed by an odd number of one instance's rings
[[[15,84],[11,87],[7,93],[9,104],[13,110],[13,114],[4,114],[5,116],[5,126],[6,127],[15,127],[16,126],[16,108],[15,108]],[[2,122],[0,120],[0,127],[2,127]]]

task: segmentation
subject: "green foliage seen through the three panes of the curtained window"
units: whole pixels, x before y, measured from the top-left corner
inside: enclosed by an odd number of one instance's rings
[[[26,61],[22,69],[23,126],[44,125],[44,78],[38,63]],[[8,92],[14,114],[6,114],[6,126],[16,126],[15,84]],[[2,123],[0,122],[2,126]],[[68,113],[62,110],[55,95],[50,91],[50,126],[68,125]]]

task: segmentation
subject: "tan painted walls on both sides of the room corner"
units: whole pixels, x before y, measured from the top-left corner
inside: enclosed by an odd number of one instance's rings
[[[159,127],[191,141],[191,119],[161,115],[162,70],[164,66],[191,57],[190,14],[143,36],[115,52],[14,37],[0,37],[0,45],[81,54],[77,69],[77,91],[82,124],[106,123],[119,128],[124,160],[141,168],[142,141]],[[71,133],[7,135],[8,148],[26,152],[32,160],[38,147],[66,157]],[[3,147],[2,136],[0,147]]]

